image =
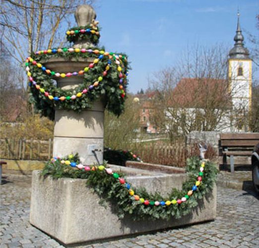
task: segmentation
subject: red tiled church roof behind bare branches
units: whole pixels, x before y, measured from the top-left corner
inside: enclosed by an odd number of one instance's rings
[[[177,108],[215,109],[231,106],[228,81],[215,78],[182,78],[173,89],[170,105]]]

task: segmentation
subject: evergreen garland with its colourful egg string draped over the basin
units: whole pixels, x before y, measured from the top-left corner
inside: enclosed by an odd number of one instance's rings
[[[122,173],[113,172],[105,163],[101,166],[84,166],[77,154],[51,159],[42,175],[54,179],[87,179],[86,185],[102,197],[100,203],[111,202],[119,218],[129,214],[133,220],[156,220],[179,219],[187,215],[198,205],[198,199],[211,192],[217,174],[212,162],[192,157],[187,160],[186,173],[188,180],[182,190],[172,188],[167,197],[162,197],[158,192],[148,193],[145,188],[134,188],[126,182]]]

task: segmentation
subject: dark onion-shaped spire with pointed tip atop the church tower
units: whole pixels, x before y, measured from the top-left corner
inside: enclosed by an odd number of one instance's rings
[[[239,13],[238,13],[238,23],[236,35],[234,37],[235,45],[229,52],[230,59],[249,59],[249,51],[244,47],[244,36],[242,34],[242,30],[240,28],[239,23]]]

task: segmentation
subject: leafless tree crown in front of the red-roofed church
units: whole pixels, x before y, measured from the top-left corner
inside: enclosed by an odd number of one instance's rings
[[[245,106],[233,117],[231,98],[240,89],[230,90],[227,54],[228,49],[221,45],[194,46],[181,56],[177,66],[165,68],[150,79],[157,92],[154,120],[171,141],[175,135],[192,130],[230,128],[236,124],[233,118],[244,120]]]

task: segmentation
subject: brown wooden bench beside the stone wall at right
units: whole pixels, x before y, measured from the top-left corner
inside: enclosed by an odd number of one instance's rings
[[[259,143],[259,133],[221,133],[220,145],[224,157],[230,157],[230,171],[234,172],[234,156],[251,156],[256,144]]]

